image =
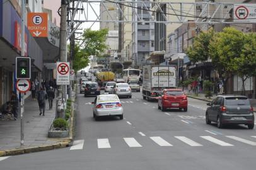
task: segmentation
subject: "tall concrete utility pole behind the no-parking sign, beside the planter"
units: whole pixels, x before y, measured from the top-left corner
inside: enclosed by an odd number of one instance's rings
[[[59,55],[61,62],[67,62],[67,1],[61,0],[61,28],[60,28],[60,43],[59,43]],[[64,108],[59,109],[63,103],[66,102],[66,86],[58,86],[58,98],[57,98],[57,117],[64,118]]]

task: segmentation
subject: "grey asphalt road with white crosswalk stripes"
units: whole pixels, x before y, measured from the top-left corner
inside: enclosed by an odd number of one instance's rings
[[[134,92],[121,98],[124,120],[95,122],[90,102],[77,96],[74,145],[0,158],[0,169],[254,169],[256,130],[206,125],[206,102],[189,99],[187,112],[158,110]]]

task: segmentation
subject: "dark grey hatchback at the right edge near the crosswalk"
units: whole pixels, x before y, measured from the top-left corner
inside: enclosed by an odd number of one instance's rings
[[[206,123],[217,122],[217,127],[226,124],[244,124],[254,127],[253,108],[247,96],[221,95],[214,98],[206,110]]]

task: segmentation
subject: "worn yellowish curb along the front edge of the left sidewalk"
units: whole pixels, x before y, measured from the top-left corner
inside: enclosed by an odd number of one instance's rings
[[[52,150],[52,149],[59,149],[69,147],[69,142],[61,142],[58,144],[52,145],[42,145],[38,147],[26,147],[21,149],[11,149],[11,150],[0,150],[0,157],[1,156],[15,156],[20,154],[28,154],[32,152],[40,152],[44,150]]]

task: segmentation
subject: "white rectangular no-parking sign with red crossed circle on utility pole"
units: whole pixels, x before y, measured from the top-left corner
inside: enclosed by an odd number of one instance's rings
[[[57,85],[69,85],[69,62],[57,62]]]

